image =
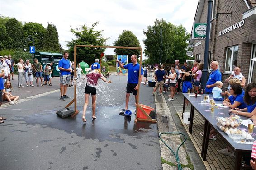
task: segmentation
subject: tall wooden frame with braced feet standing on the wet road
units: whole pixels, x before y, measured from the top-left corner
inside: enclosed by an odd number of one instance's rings
[[[92,46],[92,45],[75,45],[74,46],[74,63],[75,63],[75,73],[74,76],[76,77],[76,49],[77,47],[90,47],[90,48],[123,48],[123,49],[132,49],[132,50],[140,50],[141,53],[141,57],[140,57],[140,69],[139,69],[139,75],[141,75],[141,67],[142,67],[142,48],[141,47],[127,47],[127,46]],[[136,104],[136,112],[138,111],[138,103],[139,103],[139,92],[140,92],[140,83],[138,84],[138,97],[137,97],[137,104]],[[71,104],[74,103],[75,105],[75,113],[72,115],[72,117],[74,117],[75,115],[77,115],[79,113],[79,110],[77,110],[77,105],[76,105],[76,84],[74,85],[74,99],[72,101],[70,101],[66,106],[69,107],[71,106]],[[139,121],[147,121],[147,122],[156,122],[156,120],[151,119],[149,117],[149,115],[147,115],[147,113],[140,107],[140,109],[142,110],[142,112],[148,117],[148,119],[140,119],[137,118],[137,114],[136,114],[136,118],[135,118],[135,123],[137,122],[137,120]]]

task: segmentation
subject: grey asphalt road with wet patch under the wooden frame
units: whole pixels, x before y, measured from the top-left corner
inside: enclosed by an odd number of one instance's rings
[[[43,88],[43,92],[57,89],[58,81],[56,87],[14,89],[20,96],[20,92],[28,89],[30,92],[26,95],[29,95],[22,98],[30,100],[0,109],[0,115],[7,117],[5,123],[0,124],[0,169],[161,170],[157,124],[134,124],[134,114],[119,115],[125,105],[127,76],[112,75],[110,79],[111,84],[99,83],[97,119],[91,118],[90,103],[86,123],[82,122],[81,111],[75,118],[61,119],[55,114],[72,97],[61,101],[59,92],[31,97],[42,93]],[[78,110],[82,110],[83,91],[83,83],[79,83]],[[151,93],[152,87],[142,83],[140,103],[155,108]],[[67,95],[73,94],[74,88],[68,88]],[[134,103],[131,95],[129,109],[133,113]]]

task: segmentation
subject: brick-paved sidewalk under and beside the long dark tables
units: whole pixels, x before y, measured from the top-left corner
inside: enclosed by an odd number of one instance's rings
[[[200,135],[200,132],[204,131],[204,119],[195,110],[193,131],[192,134],[190,134],[188,132],[189,124],[183,123],[183,119],[181,117],[184,96],[182,95],[182,93],[179,93],[175,95],[174,101],[167,101],[167,99],[169,98],[169,94],[170,92],[167,92],[166,94],[163,94],[164,97],[161,98],[156,95],[156,99],[157,101],[165,99],[165,102],[167,102],[167,105],[171,112],[171,116],[173,118],[172,120],[174,120],[173,124],[175,124],[169,128],[172,128],[173,131],[175,129],[178,129],[178,131],[180,132],[186,132],[186,136],[188,136],[188,140],[185,142],[186,152],[190,156],[191,164],[194,165],[194,170],[203,170],[204,167],[207,170],[233,170],[235,164],[235,157],[222,155],[217,152],[217,149],[223,149],[227,147],[227,144],[223,141],[223,139],[220,136],[217,136],[217,140],[209,141],[206,161],[203,161],[201,159],[200,155],[203,137]],[[190,104],[186,106],[185,112],[190,112],[190,107]]]

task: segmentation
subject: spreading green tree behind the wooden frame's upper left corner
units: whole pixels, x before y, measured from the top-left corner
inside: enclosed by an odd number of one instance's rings
[[[67,41],[67,47],[69,47],[69,55],[74,56],[75,45],[94,45],[94,46],[106,46],[107,38],[102,35],[103,30],[96,31],[95,27],[98,22],[92,24],[92,27],[84,24],[80,28],[73,29],[71,27],[70,32],[73,33],[76,39]],[[92,48],[92,47],[77,47],[76,48],[76,60],[81,62],[84,60],[89,65],[95,62],[95,58],[100,59],[100,54],[105,51],[105,48]]]

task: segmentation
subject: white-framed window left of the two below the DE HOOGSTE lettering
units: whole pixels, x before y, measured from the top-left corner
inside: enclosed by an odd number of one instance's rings
[[[232,46],[227,49],[225,72],[231,73],[237,66],[238,46]]]

